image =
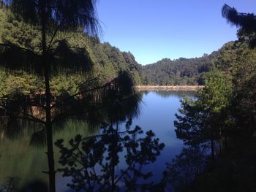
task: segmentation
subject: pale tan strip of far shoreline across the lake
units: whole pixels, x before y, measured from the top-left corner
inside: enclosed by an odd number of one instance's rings
[[[135,85],[138,91],[198,91],[203,85]]]

